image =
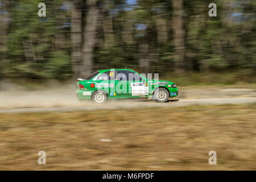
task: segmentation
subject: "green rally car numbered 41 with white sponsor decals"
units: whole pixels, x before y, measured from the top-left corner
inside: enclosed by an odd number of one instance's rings
[[[147,97],[167,102],[176,97],[179,89],[171,81],[149,79],[131,69],[104,69],[88,77],[78,78],[76,91],[79,100],[92,99],[102,103],[108,99]]]

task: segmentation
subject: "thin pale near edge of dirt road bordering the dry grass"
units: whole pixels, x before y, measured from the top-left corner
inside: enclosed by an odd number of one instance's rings
[[[88,103],[89,102],[89,103]],[[0,113],[24,113],[24,112],[44,112],[44,111],[79,111],[79,110],[99,110],[99,109],[125,109],[138,107],[175,107],[187,105],[205,105],[205,104],[245,104],[256,102],[256,97],[243,98],[198,98],[198,99],[182,99],[169,100],[166,103],[157,103],[146,99],[138,100],[122,100],[109,101],[104,105],[96,105],[90,101],[86,102],[86,106],[72,107],[34,107],[34,108],[19,108],[19,109],[0,109]]]

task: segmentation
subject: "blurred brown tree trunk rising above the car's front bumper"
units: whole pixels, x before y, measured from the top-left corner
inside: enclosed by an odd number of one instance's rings
[[[183,0],[172,0],[174,15],[172,19],[172,28],[175,46],[176,72],[184,72],[184,28],[183,28]]]

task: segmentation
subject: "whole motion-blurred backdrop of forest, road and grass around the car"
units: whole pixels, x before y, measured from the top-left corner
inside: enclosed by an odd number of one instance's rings
[[[253,0],[0,0],[0,169],[255,170],[255,10]],[[76,78],[125,67],[175,82],[176,102],[76,100]]]

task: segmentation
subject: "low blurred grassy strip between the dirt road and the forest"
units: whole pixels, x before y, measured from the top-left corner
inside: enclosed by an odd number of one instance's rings
[[[152,75],[154,78],[154,74]],[[219,72],[187,72],[177,75],[174,72],[159,72],[159,79],[170,80],[181,86],[193,86],[194,88],[205,86],[237,86],[238,88],[256,88],[256,74],[253,69],[230,69]],[[66,80],[26,80],[24,78],[0,80],[0,92],[11,88],[22,90],[38,90],[51,88],[74,88],[76,89],[76,78],[69,77]],[[64,88],[65,87],[65,88]]]

